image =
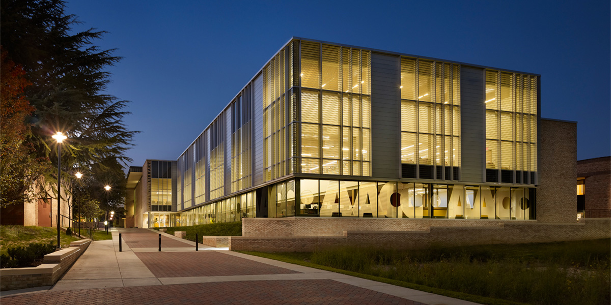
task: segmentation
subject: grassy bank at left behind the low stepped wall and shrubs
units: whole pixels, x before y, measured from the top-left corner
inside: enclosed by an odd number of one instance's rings
[[[80,240],[60,232],[60,245],[68,248],[71,242]],[[57,228],[39,226],[0,226],[0,253],[7,254],[7,248],[27,246],[29,243],[57,243]]]

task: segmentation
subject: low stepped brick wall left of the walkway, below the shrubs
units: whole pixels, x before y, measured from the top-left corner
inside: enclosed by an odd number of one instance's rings
[[[0,269],[0,290],[50,286],[70,269],[91,244],[90,239],[70,243],[70,248],[45,255],[43,264],[29,268]]]

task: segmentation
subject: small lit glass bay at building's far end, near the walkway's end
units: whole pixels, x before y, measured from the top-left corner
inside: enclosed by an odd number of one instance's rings
[[[151,161],[151,210],[172,210],[172,161]]]

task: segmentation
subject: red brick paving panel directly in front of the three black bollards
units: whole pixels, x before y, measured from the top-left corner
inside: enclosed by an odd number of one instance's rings
[[[158,278],[299,273],[213,251],[145,252],[136,256]]]

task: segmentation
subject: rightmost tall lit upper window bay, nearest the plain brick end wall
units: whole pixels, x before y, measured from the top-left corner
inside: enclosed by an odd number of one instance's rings
[[[536,76],[486,70],[486,181],[536,184]]]

